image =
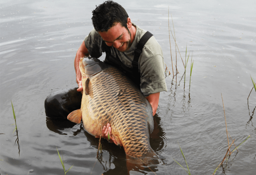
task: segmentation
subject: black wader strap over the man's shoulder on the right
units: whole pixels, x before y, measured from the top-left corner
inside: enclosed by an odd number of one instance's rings
[[[144,47],[144,45],[146,44],[146,42],[149,40],[149,38],[151,38],[151,36],[153,36],[152,33],[150,33],[149,31],[147,31],[140,39],[138,45],[137,45],[137,49],[135,49],[134,51],[134,58],[132,61],[132,68],[133,71],[138,72],[139,68],[138,68],[138,61],[140,58],[140,54],[142,52],[142,49]]]

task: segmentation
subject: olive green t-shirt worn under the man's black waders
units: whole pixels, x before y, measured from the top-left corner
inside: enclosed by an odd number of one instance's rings
[[[113,46],[110,47],[111,55],[113,57],[117,55],[121,62],[130,68],[132,67],[134,50],[137,48],[140,38],[146,33],[146,30],[136,26],[134,23],[133,25],[136,27],[136,34],[131,47],[127,51],[120,52]],[[102,52],[105,52],[102,42],[104,41],[95,29],[85,37],[84,44],[91,57],[99,58]],[[167,91],[163,59],[161,46],[152,36],[144,45],[138,60],[138,68],[141,75],[140,89],[145,97],[157,92]]]

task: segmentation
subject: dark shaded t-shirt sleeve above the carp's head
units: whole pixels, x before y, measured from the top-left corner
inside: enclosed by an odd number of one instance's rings
[[[104,52],[101,48],[102,38],[95,29],[84,38],[84,44],[91,57],[99,58]]]

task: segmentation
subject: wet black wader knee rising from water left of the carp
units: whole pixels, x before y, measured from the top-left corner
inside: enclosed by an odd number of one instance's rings
[[[67,115],[81,108],[82,93],[77,88],[64,89],[50,94],[45,99],[45,113],[50,118],[66,118]]]

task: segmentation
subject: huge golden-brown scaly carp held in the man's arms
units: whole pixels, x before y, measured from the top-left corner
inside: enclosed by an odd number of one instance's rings
[[[81,58],[79,69],[81,109],[67,118],[75,123],[82,119],[84,129],[98,137],[101,122],[103,126],[110,123],[111,138],[124,147],[127,159],[133,163],[159,162],[149,144],[149,133],[154,129],[152,107],[138,87],[119,69],[96,58]]]

